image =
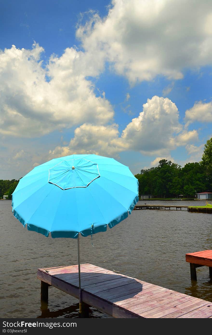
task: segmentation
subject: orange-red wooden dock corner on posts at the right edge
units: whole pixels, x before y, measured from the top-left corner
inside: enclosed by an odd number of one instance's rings
[[[203,250],[186,254],[186,262],[190,263],[191,279],[197,280],[196,268],[209,267],[209,276],[212,279],[212,250]]]

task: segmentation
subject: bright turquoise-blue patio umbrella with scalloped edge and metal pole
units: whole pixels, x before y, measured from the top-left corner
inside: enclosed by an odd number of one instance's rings
[[[78,239],[112,228],[131,214],[138,180],[128,166],[98,155],[70,155],[34,167],[12,194],[13,215],[28,230]]]

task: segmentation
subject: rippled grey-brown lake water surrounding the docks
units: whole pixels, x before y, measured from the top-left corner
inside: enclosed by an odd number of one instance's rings
[[[144,204],[145,200],[138,204]],[[212,201],[210,201],[212,202]],[[147,204],[205,205],[204,201]],[[0,201],[1,318],[78,318],[78,300],[51,287],[49,309],[40,305],[37,269],[77,264],[77,240],[52,239],[28,231],[14,218],[10,200]],[[134,210],[106,232],[80,237],[81,263],[109,270],[212,302],[208,267],[191,281],[185,254],[212,249],[212,214],[182,210]],[[91,308],[91,318],[109,316]]]

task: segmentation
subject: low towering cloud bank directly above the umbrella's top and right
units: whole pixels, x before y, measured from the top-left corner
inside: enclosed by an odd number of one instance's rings
[[[153,96],[143,105],[143,111],[123,130],[121,136],[117,124],[99,126],[83,124],[75,129],[68,146],[50,150],[50,157],[73,153],[95,153],[116,157],[127,150],[147,155],[169,156],[176,146],[185,145],[198,138],[196,130],[185,131],[179,123],[179,111],[168,98]]]

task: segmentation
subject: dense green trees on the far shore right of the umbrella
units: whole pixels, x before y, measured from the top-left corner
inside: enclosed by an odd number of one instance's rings
[[[184,167],[161,159],[159,165],[141,170],[135,175],[139,181],[139,195],[154,198],[195,198],[197,193],[212,192],[212,138],[205,144],[202,160]]]

